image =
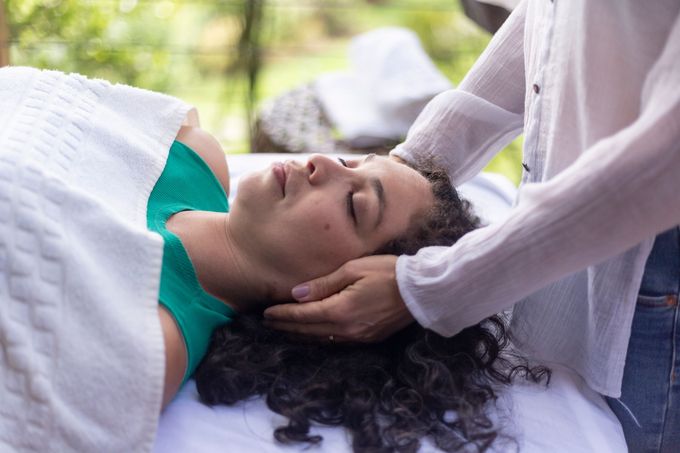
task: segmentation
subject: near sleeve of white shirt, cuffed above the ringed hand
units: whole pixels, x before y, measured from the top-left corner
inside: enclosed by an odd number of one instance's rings
[[[636,120],[548,182],[507,220],[397,261],[406,305],[454,335],[535,290],[680,223],[680,19],[649,71]],[[549,301],[546,301],[549,303]]]

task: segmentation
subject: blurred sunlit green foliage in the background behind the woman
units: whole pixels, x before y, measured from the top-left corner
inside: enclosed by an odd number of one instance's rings
[[[5,7],[12,64],[181,97],[227,152],[247,152],[253,105],[346,69],[358,33],[414,30],[454,84],[490,39],[457,0],[5,0]],[[518,182],[520,149],[513,143],[489,169]]]

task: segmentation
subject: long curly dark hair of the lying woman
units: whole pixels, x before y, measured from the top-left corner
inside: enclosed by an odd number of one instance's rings
[[[450,245],[478,225],[446,172],[419,169],[432,184],[434,206],[403,236],[377,253],[412,254]],[[429,437],[445,451],[485,451],[500,437],[488,416],[497,388],[521,377],[549,381],[509,349],[506,324],[492,316],[446,338],[417,323],[376,344],[296,341],[242,315],[218,329],[194,375],[201,400],[234,404],[265,396],[288,418],[275,429],[282,443],[317,444],[312,423],[343,426],[355,452],[415,452]]]

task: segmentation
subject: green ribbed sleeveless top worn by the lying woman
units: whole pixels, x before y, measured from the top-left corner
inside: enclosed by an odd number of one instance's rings
[[[210,167],[191,148],[175,141],[163,173],[149,197],[147,228],[163,237],[163,266],[158,296],[184,337],[187,369],[182,383],[208,350],[213,331],[231,321],[234,311],[206,293],[182,241],[165,224],[180,211],[228,212],[229,202]]]

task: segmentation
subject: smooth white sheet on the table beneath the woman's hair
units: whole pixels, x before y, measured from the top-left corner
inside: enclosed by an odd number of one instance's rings
[[[345,156],[352,157],[352,156]],[[356,157],[356,156],[355,156]],[[256,154],[229,157],[232,196],[245,172],[276,160],[305,160],[305,155]],[[478,214],[486,221],[505,215],[514,199],[514,187],[502,176],[480,175],[461,188]],[[592,391],[572,371],[552,366],[548,388],[516,384],[498,401],[503,432],[514,437],[523,453],[621,453],[627,451],[618,420],[602,397]],[[193,452],[286,452],[303,451],[303,446],[279,445],[273,440],[274,428],[284,418],[270,411],[262,398],[235,406],[210,408],[198,401],[194,381],[190,381],[162,414],[154,453]],[[324,440],[314,452],[350,452],[345,431],[315,427]],[[513,444],[499,444],[495,451],[515,451]],[[436,451],[429,443],[423,452]]]

